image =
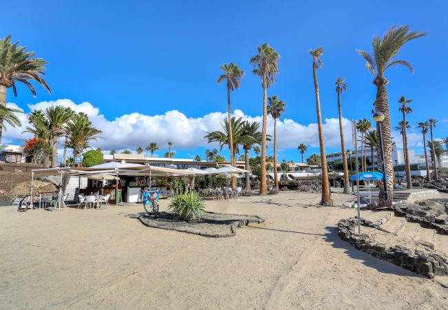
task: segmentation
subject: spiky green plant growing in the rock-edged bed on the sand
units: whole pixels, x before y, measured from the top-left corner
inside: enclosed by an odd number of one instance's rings
[[[205,212],[203,201],[197,193],[174,196],[168,209],[172,210],[174,214],[183,220],[200,218]]]

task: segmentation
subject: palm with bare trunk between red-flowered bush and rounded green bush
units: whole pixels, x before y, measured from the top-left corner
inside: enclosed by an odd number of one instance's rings
[[[43,112],[45,117],[50,122],[51,138],[52,138],[52,161],[51,167],[57,167],[57,143],[59,136],[65,132],[64,125],[73,117],[72,112],[67,110],[62,105],[52,105],[47,107]]]

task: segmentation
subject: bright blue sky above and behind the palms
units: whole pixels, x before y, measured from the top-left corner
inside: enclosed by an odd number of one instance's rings
[[[312,130],[309,124],[316,123],[309,48],[324,48],[323,68],[318,72],[323,118],[338,115],[334,90],[338,76],[348,85],[343,94],[344,117],[369,118],[376,88],[356,49],[371,51],[374,34],[383,34],[390,25],[409,24],[429,35],[411,41],[399,54],[399,59],[414,66],[414,73],[397,66],[386,74],[393,125],[400,121],[397,101],[404,95],[414,99],[412,125],[436,118],[440,121],[436,137],[448,136],[445,1],[379,1],[374,6],[367,1],[17,0],[3,3],[2,8],[7,14],[0,19],[0,37],[12,34],[14,41],[20,40],[47,60],[46,80],[52,88],[50,95],[38,87],[33,98],[20,86],[19,96],[14,98],[8,91],[7,101],[25,112],[42,101],[88,102],[90,110],[99,109],[92,112],[101,118],[99,123],[109,122],[112,127],[120,123],[125,128],[124,121],[132,123],[134,116],[139,121],[142,115],[159,115],[166,121],[165,113],[177,110],[187,122],[196,122],[194,128],[203,128],[203,116],[226,110],[225,85],[218,85],[216,79],[221,64],[230,61],[245,70],[241,89],[232,93],[232,109],[256,120],[261,115],[262,90],[249,60],[257,45],[268,42],[281,54],[280,74],[268,94],[278,95],[287,105],[283,119],[292,123],[283,124],[285,138],[278,153],[288,160],[298,160],[296,145],[309,134],[304,128]],[[219,123],[216,117],[209,121]],[[163,146],[171,138],[177,157],[203,156],[207,145],[194,147],[198,138],[183,143],[185,137],[170,120],[159,125],[170,124],[172,130],[137,130],[141,142],[131,131],[123,135],[121,144],[117,140],[108,145],[110,136],[105,133],[99,146],[132,148],[149,141]],[[153,121],[150,117],[141,122],[150,127]],[[304,128],[290,129],[298,124]],[[194,128],[185,134],[197,132]],[[14,130],[8,132],[9,142],[17,143]],[[422,152],[420,134],[412,133],[411,147]],[[335,140],[328,143],[327,152],[338,150],[337,135],[326,134]],[[317,141],[308,144],[308,154],[318,152]]]

